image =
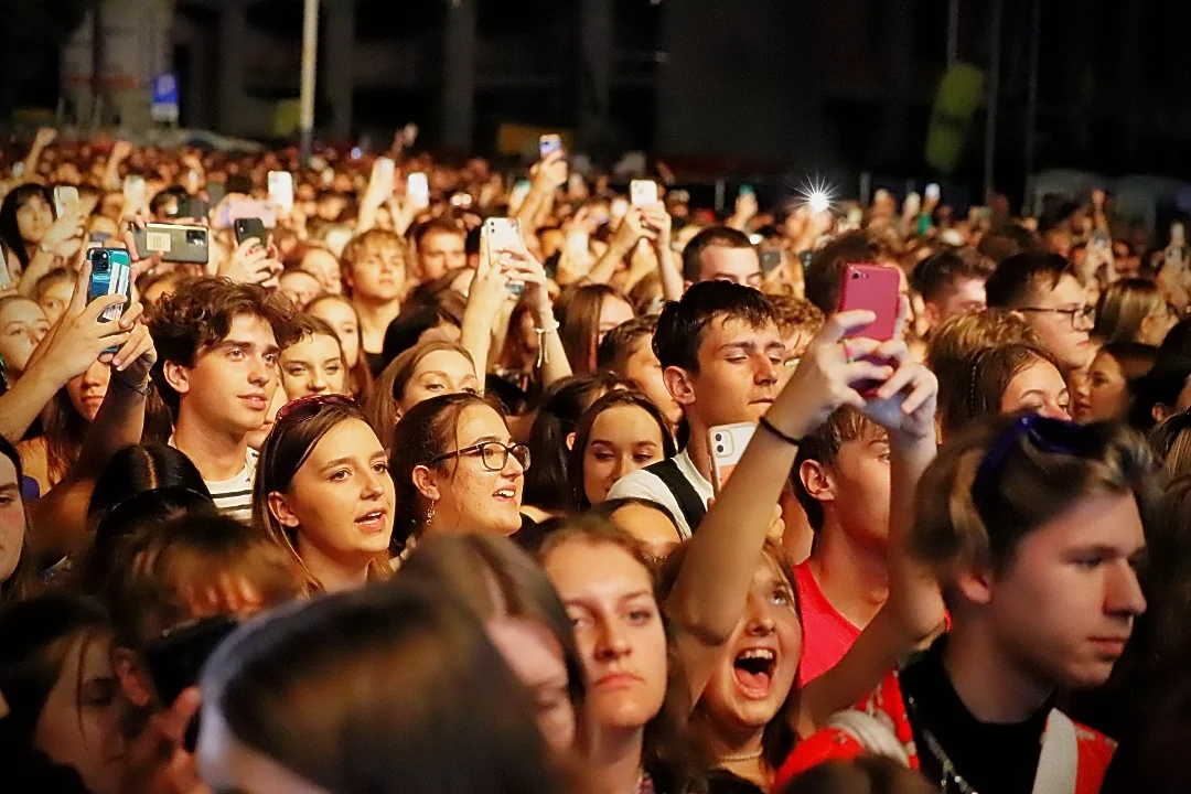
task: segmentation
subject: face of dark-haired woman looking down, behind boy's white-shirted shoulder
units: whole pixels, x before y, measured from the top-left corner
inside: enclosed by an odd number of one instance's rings
[[[598,505],[617,480],[665,457],[662,430],[649,412],[636,405],[618,405],[592,423],[584,449],[584,493]]]

